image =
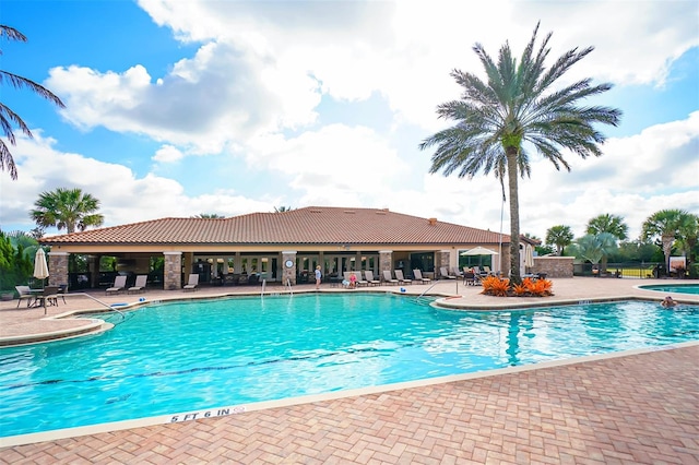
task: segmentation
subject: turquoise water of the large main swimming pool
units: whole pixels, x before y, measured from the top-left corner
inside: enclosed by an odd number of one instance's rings
[[[150,306],[100,335],[0,349],[0,436],[695,339],[699,307],[639,301],[463,312],[344,294]]]

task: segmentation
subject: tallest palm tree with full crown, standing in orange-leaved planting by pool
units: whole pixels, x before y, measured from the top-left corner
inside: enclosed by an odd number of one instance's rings
[[[530,175],[531,165],[524,144],[550,160],[556,169],[570,170],[562,150],[570,150],[587,158],[600,156],[600,144],[605,136],[593,123],[617,126],[621,111],[615,108],[581,106],[579,102],[602,94],[612,84],[591,86],[591,80],[552,88],[578,61],[594,48],[573,48],[565,52],[546,69],[544,61],[550,48],[549,33],[538,50],[534,51],[538,24],[519,61],[512,57],[506,43],[500,48],[497,63],[481,44],[473,50],[485,68],[487,83],[471,73],[453,70],[451,75],[464,92],[460,100],[441,104],[440,118],[457,124],[423,141],[420,150],[437,145],[429,172],[443,170],[445,176],[458,171],[460,178],[472,178],[481,169],[494,171],[503,186],[508,177],[510,195],[510,277],[521,282],[519,270],[520,213],[518,175]]]

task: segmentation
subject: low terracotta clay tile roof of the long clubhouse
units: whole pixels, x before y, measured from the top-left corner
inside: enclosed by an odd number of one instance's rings
[[[498,233],[377,208],[309,206],[230,218],[162,218],[70,235],[45,245],[498,243]],[[509,236],[502,240],[509,242]]]

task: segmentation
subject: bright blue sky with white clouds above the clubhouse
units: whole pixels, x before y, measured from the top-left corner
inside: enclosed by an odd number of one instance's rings
[[[636,238],[660,210],[699,214],[696,0],[2,0],[0,23],[27,37],[3,37],[0,69],[66,104],[0,87],[34,134],[4,139],[19,170],[0,172],[5,233],[36,226],[42,192],[79,188],[104,226],[340,206],[507,234],[493,174],[430,175],[418,145],[454,124],[436,112],[460,98],[452,70],[485,80],[473,46],[519,57],[537,23],[547,65],[594,47],[556,86],[612,83],[583,104],[624,116],[597,127],[601,157],[566,154],[570,171],[531,154],[520,230],[580,237],[613,214]]]

